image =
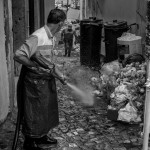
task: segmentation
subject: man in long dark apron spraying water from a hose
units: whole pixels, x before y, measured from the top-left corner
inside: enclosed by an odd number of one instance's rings
[[[23,118],[25,150],[42,150],[57,144],[48,132],[59,123],[57,91],[54,74],[64,81],[53,62],[54,36],[60,31],[66,14],[60,9],[50,11],[47,24],[35,31],[15,52],[14,59],[22,70],[17,85],[18,111]]]

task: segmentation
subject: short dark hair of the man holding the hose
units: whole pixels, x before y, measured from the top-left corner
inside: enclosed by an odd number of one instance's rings
[[[65,21],[66,14],[61,9],[52,9],[48,15],[47,23],[57,24],[61,21]]]

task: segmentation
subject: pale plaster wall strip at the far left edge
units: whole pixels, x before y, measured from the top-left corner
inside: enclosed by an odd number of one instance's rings
[[[9,112],[9,83],[5,51],[4,4],[0,1],[0,122]]]

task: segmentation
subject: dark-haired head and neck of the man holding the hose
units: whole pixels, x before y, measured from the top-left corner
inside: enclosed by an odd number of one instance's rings
[[[53,9],[50,11],[48,18],[47,18],[47,24],[53,26],[55,28],[55,32],[58,32],[61,27],[64,24],[64,21],[66,19],[66,14],[63,10],[60,9]]]

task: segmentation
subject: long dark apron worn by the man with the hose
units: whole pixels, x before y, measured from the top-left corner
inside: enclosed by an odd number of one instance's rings
[[[20,76],[22,79],[18,81],[20,100],[23,100],[22,131],[26,136],[39,138],[59,123],[55,78],[27,68],[23,72],[24,77]]]

